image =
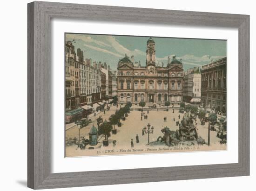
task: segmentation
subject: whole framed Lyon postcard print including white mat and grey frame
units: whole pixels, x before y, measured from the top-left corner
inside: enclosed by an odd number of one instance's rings
[[[248,15],[28,4],[28,187],[245,175]]]

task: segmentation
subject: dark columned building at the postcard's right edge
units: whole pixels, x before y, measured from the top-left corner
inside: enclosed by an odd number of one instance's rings
[[[202,66],[201,102],[205,108],[226,113],[227,57]]]

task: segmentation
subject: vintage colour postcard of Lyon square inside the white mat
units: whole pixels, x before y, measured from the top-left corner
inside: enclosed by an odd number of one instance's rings
[[[65,33],[65,156],[227,149],[227,41]]]

